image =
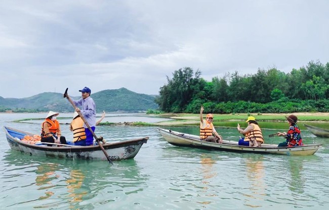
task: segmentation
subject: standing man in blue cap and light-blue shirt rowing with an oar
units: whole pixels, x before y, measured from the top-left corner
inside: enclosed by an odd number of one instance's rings
[[[91,127],[91,129],[95,132],[96,127],[96,104],[93,98],[90,97],[91,90],[89,87],[84,87],[83,89],[79,90],[81,92],[81,98],[78,100],[73,100],[73,103],[76,107],[81,107],[75,109],[75,112],[80,112],[84,118],[86,119],[87,123]],[[93,145],[94,136],[90,132],[89,128],[84,123],[84,128],[86,132],[86,139],[74,142],[74,145],[79,146],[90,146]]]

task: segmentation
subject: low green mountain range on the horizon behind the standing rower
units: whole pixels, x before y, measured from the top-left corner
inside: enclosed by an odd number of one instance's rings
[[[157,109],[154,96],[140,94],[126,88],[102,90],[92,93],[91,97],[96,103],[96,111],[102,112],[138,112],[148,109]],[[79,99],[80,96],[71,96]],[[72,112],[73,108],[63,94],[44,92],[27,98],[3,98],[0,96],[2,109],[27,109],[36,111]]]

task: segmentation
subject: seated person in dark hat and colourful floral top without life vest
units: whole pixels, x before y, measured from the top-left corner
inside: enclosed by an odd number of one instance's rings
[[[301,130],[299,130],[297,126],[297,116],[290,115],[285,117],[289,123],[289,130],[288,132],[277,132],[278,136],[283,136],[285,138],[284,142],[279,143],[278,147],[282,146],[302,146],[303,140],[301,136]]]

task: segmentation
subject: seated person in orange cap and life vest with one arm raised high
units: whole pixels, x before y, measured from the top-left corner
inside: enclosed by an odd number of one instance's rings
[[[200,139],[201,141],[210,141],[214,143],[223,143],[223,138],[220,136],[215,127],[213,125],[214,116],[212,114],[208,114],[203,120],[202,113],[204,109],[201,106],[200,110]],[[214,136],[214,135],[215,136]]]

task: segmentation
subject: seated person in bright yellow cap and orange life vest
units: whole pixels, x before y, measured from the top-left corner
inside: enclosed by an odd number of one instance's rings
[[[244,138],[240,139],[238,144],[241,146],[261,146],[264,143],[264,138],[256,119],[250,116],[245,122],[248,122],[248,127],[244,130],[237,124],[237,130],[244,135]]]

